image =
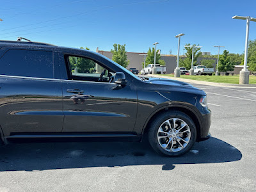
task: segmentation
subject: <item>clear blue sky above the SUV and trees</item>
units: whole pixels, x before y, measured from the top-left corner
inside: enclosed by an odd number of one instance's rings
[[[242,54],[246,21],[234,15],[256,18],[256,1],[173,0],[0,0],[0,39],[18,36],[65,47],[110,51],[125,44],[127,52],[147,52],[154,42],[161,54],[180,54],[185,44],[218,54],[213,45]],[[250,22],[249,39],[256,39],[256,22]],[[221,52],[224,50],[221,49]]]

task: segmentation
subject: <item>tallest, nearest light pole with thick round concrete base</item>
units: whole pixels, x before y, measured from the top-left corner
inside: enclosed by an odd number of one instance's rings
[[[246,35],[245,35],[245,48],[244,48],[244,68],[239,72],[239,84],[249,84],[249,75],[250,72],[247,69],[247,54],[248,54],[248,38],[249,38],[249,26],[250,20],[256,22],[256,19],[253,17],[242,17],[234,16],[232,19],[242,19],[246,20]]]

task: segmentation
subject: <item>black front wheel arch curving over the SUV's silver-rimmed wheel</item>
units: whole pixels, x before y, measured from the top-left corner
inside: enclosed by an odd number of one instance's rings
[[[189,108],[188,106],[184,106],[184,105],[180,105],[180,104],[179,105],[164,106],[164,107],[159,108],[156,111],[154,111],[148,117],[147,121],[145,122],[145,124],[143,126],[142,134],[143,135],[147,134],[148,129],[150,127],[150,123],[152,122],[152,120],[154,120],[154,118],[156,118],[157,116],[161,115],[162,113],[164,113],[166,111],[181,111],[182,113],[185,113],[186,115],[188,115],[196,125],[196,141],[200,140],[202,122],[200,121],[200,118],[199,118],[198,114],[196,113],[196,111]]]

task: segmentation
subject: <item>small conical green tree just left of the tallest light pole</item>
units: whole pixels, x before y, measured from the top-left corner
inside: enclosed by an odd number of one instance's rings
[[[234,67],[234,63],[230,61],[229,52],[227,50],[224,50],[223,54],[220,55],[218,71],[222,72],[223,75],[224,72],[227,72],[228,70],[233,71]]]

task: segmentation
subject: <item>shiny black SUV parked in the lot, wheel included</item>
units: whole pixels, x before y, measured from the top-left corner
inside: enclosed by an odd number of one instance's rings
[[[138,77],[105,56],[36,42],[0,41],[3,143],[42,138],[148,138],[166,156],[210,137],[206,94]]]

